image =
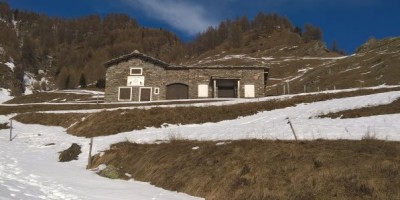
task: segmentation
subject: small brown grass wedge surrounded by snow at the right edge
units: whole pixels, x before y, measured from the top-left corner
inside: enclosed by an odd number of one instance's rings
[[[330,118],[358,118],[368,117],[373,115],[387,115],[400,113],[400,99],[387,105],[371,106],[360,109],[345,110],[336,113],[328,113],[319,117],[330,117]]]

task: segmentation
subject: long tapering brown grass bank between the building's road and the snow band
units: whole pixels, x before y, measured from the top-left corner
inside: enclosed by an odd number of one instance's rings
[[[67,131],[72,135],[93,137],[112,135],[125,131],[144,129],[145,127],[160,127],[168,124],[199,124],[206,122],[218,122],[222,120],[236,119],[240,116],[248,116],[261,111],[269,111],[299,103],[324,101],[333,98],[366,95],[386,91],[384,90],[359,90],[353,92],[332,93],[296,96],[287,100],[264,101],[227,106],[209,107],[177,107],[177,108],[152,108],[149,110],[116,110],[103,111],[89,116],[80,121]],[[104,120],[107,119],[107,120]]]

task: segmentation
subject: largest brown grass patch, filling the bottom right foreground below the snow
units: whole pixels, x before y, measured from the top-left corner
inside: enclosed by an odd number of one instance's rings
[[[396,142],[125,142],[93,161],[207,200],[400,198]]]

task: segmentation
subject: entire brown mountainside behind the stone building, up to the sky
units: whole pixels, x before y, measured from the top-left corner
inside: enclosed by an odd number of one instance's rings
[[[318,27],[307,24],[302,30],[277,14],[228,19],[183,43],[123,14],[62,19],[6,3],[0,10],[0,88],[13,95],[104,87],[103,63],[135,49],[189,67],[269,66],[267,95],[399,83],[399,38],[371,39],[343,56],[338,47],[327,48]]]

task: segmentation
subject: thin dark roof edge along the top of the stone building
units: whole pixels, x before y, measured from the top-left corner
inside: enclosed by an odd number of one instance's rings
[[[104,65],[108,68],[112,65],[116,65],[120,62],[128,61],[132,58],[138,58],[145,62],[150,62],[154,65],[161,66],[165,69],[171,70],[188,70],[188,69],[269,69],[267,66],[228,66],[228,65],[210,65],[210,66],[174,66],[170,65],[164,61],[158,60],[151,56],[140,53],[138,50],[133,51],[130,54],[122,55],[120,57],[111,59],[104,63]]]

